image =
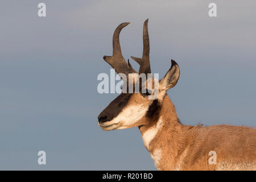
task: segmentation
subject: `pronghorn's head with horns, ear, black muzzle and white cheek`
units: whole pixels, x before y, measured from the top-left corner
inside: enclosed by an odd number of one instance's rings
[[[109,63],[115,72],[122,78],[125,89],[98,115],[98,125],[103,130],[126,129],[135,126],[147,125],[148,121],[154,118],[163,104],[163,98],[168,89],[174,87],[179,79],[179,66],[171,60],[171,68],[162,80],[152,78],[149,61],[149,38],[148,38],[148,19],[143,26],[143,55],[142,58],[133,57],[139,65],[139,74],[125,61],[122,56],[119,43],[119,34],[123,27],[129,23],[122,23],[115,29],[113,35],[113,55],[104,56],[103,59]],[[142,79],[141,75],[146,76]],[[134,90],[139,85],[139,92]],[[132,92],[128,92],[132,87]]]

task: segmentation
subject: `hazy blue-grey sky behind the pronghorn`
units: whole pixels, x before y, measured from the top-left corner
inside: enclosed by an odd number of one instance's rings
[[[123,55],[140,56],[146,18],[152,72],[163,77],[171,59],[180,66],[168,94],[181,121],[255,127],[255,9],[254,0],[1,1],[0,169],[155,169],[137,128],[97,126],[117,96],[97,93],[97,75],[110,73],[102,56],[112,53],[113,31],[131,22]]]

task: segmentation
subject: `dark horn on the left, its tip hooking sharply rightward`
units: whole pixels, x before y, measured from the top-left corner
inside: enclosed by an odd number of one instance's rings
[[[126,76],[131,73],[137,73],[131,66],[127,64],[125,59],[122,56],[122,51],[120,47],[119,42],[119,34],[123,27],[126,27],[130,23],[121,23],[119,26],[115,29],[114,35],[113,35],[113,55],[112,56],[104,56],[103,59],[109,63],[112,68],[115,69],[115,72],[123,73]]]

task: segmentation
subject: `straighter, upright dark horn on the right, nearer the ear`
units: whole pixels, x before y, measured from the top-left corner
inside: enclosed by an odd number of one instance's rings
[[[143,54],[142,54],[142,58],[131,56],[131,58],[140,65],[139,74],[151,73],[150,61],[149,61],[150,43],[149,43],[149,37],[148,37],[147,23],[148,23],[148,19],[146,19],[146,21],[144,22],[144,25],[143,25]]]

